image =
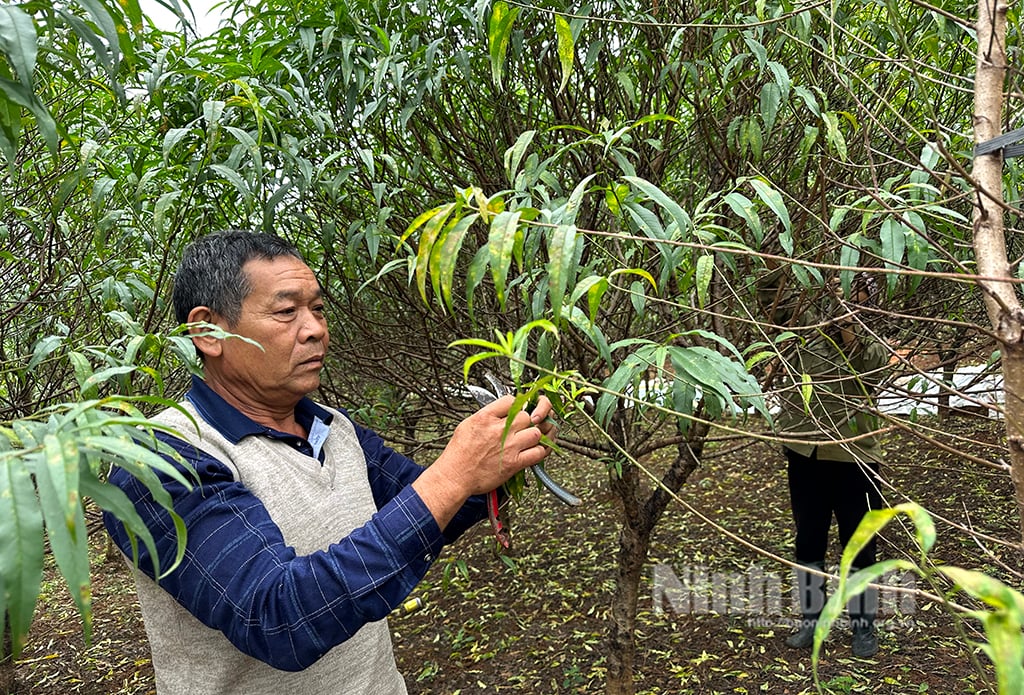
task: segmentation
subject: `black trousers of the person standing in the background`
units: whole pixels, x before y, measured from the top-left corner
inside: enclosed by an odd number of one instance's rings
[[[824,562],[828,551],[828,529],[835,515],[839,539],[846,547],[857,524],[871,509],[881,509],[878,464],[848,461],[818,461],[817,451],[804,457],[785,449],[790,462],[790,503],[797,526],[797,562]],[[874,538],[853,561],[864,568],[874,564]]]

